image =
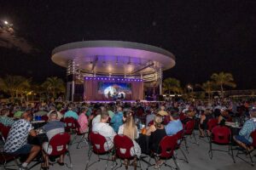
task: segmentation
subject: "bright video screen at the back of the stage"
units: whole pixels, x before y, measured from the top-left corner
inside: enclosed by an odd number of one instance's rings
[[[131,94],[131,83],[98,82],[98,94],[104,94],[108,99],[125,99],[126,94]]]

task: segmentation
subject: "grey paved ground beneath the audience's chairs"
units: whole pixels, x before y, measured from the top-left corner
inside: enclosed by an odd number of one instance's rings
[[[196,132],[197,133],[197,132]],[[77,139],[78,140],[78,139]],[[231,156],[229,156],[227,153],[224,152],[213,152],[213,158],[212,160],[208,156],[208,150],[209,150],[209,144],[205,141],[206,139],[198,139],[199,145],[193,144],[194,139],[189,139],[189,154],[186,154],[189,158],[189,163],[186,163],[183,160],[177,160],[178,165],[181,170],[255,170],[255,167],[252,167],[251,165],[247,164],[244,161],[241,161],[239,158],[235,157],[236,163],[233,163]],[[88,160],[88,145],[81,144],[80,149],[76,149],[76,144],[73,144],[70,146],[70,152],[72,156],[73,161],[73,169],[81,170],[84,169]],[[214,147],[215,145],[213,145]],[[216,146],[218,149],[227,149],[226,146]],[[236,153],[236,150],[235,150]],[[253,153],[256,154],[256,151]],[[179,150],[177,150],[177,157],[183,158],[183,155]],[[248,157],[243,156],[247,160],[249,160]],[[256,157],[253,157],[254,161],[256,161]],[[96,156],[92,156],[92,160],[96,160]],[[148,160],[148,158],[147,158]],[[65,157],[65,162],[69,163],[67,156]],[[100,161],[94,164],[90,167],[91,170],[101,170],[104,169],[106,161]],[[119,160],[118,160],[119,162]],[[151,161],[152,163],[154,160]],[[12,162],[10,162],[12,163]],[[172,160],[168,160],[167,163],[171,164],[174,167],[174,163]],[[142,162],[143,169],[147,168],[146,163]],[[32,169],[40,169],[39,166],[33,167]],[[55,170],[62,170],[62,169],[68,169],[66,166],[61,167],[58,164],[55,164],[54,166],[49,167],[49,169],[55,169]],[[109,163],[108,169],[111,169],[111,162]],[[125,167],[121,167],[119,169],[125,169]],[[133,167],[130,167],[129,169],[133,169]],[[154,169],[154,167],[150,167],[149,169]],[[162,166],[161,169],[170,169],[170,167]]]

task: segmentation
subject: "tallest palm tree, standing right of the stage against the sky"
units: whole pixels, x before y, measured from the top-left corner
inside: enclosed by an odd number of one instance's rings
[[[220,87],[222,99],[224,99],[224,86],[236,88],[233,75],[229,72],[213,73],[211,78],[213,82]]]

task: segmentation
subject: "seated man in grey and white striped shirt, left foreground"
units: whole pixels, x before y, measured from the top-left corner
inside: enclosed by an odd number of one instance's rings
[[[64,122],[60,122],[58,120],[58,114],[56,111],[52,111],[49,114],[49,122],[42,127],[42,129],[46,132],[48,140],[55,136],[58,133],[65,132],[65,124]],[[48,142],[44,142],[43,144],[43,156],[44,156],[44,164],[42,164],[43,168],[49,167],[49,157],[45,154],[51,154],[52,147]],[[64,165],[64,154],[60,156],[60,159],[57,161],[61,166]]]

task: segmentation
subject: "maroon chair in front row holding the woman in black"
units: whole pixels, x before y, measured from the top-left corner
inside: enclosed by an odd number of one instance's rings
[[[154,152],[154,150],[151,150],[151,156],[154,156],[156,158],[156,161],[159,161],[160,158],[161,159],[165,159],[164,165],[166,167],[171,167],[170,165],[166,164],[166,160],[167,159],[171,159],[174,161],[177,170],[179,170],[180,168],[178,167],[177,161],[176,161],[176,156],[174,154],[174,150],[176,150],[177,148],[177,136],[173,135],[173,136],[165,136],[163,139],[161,139],[159,147],[157,152]],[[149,162],[151,160],[151,156],[149,158]],[[153,165],[148,165],[148,167],[154,166]],[[148,169],[147,167],[147,169]]]

